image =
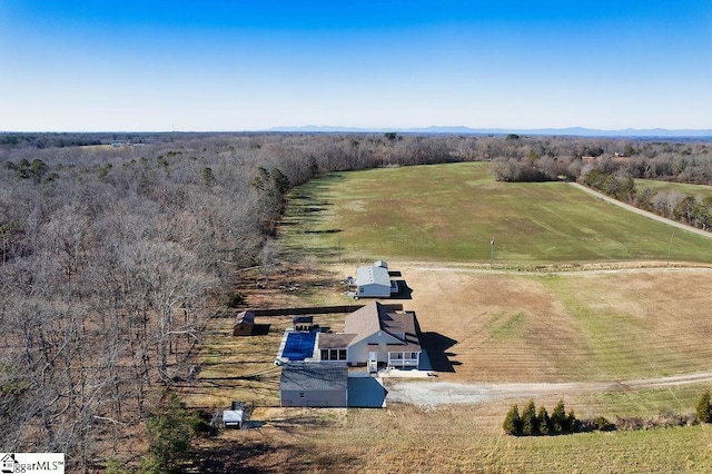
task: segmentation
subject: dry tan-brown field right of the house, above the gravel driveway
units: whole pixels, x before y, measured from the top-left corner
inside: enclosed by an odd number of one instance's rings
[[[712,270],[490,274],[395,260],[441,378],[586,382],[709,371]],[[684,302],[684,304],[681,304]]]

